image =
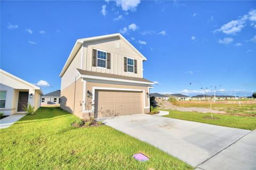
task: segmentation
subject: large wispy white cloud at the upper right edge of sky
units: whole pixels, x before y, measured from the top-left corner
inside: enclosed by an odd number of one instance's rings
[[[235,35],[245,27],[248,20],[251,21],[251,25],[254,25],[256,28],[256,10],[250,11],[247,15],[243,15],[237,20],[232,20],[226,24],[223,24],[219,29],[214,30],[213,32],[215,33],[220,31],[228,35]]]

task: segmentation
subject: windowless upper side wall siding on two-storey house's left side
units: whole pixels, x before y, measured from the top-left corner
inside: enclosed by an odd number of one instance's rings
[[[70,84],[75,82],[75,77],[78,75],[76,69],[81,69],[81,48],[78,50],[76,56],[74,57],[73,61],[68,66],[68,69],[63,74],[61,78],[61,90],[68,87]]]

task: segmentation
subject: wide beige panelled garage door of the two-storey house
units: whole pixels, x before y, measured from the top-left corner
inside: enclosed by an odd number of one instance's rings
[[[95,115],[107,117],[142,113],[141,91],[95,91]]]

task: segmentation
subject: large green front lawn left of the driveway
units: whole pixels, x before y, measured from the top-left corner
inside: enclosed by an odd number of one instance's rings
[[[41,107],[0,130],[0,169],[194,169],[107,125],[74,128],[77,119],[60,108]],[[133,159],[138,152],[150,160]]]

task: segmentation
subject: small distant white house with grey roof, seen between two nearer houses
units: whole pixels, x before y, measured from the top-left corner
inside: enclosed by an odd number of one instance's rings
[[[42,96],[41,106],[60,106],[60,90]]]

